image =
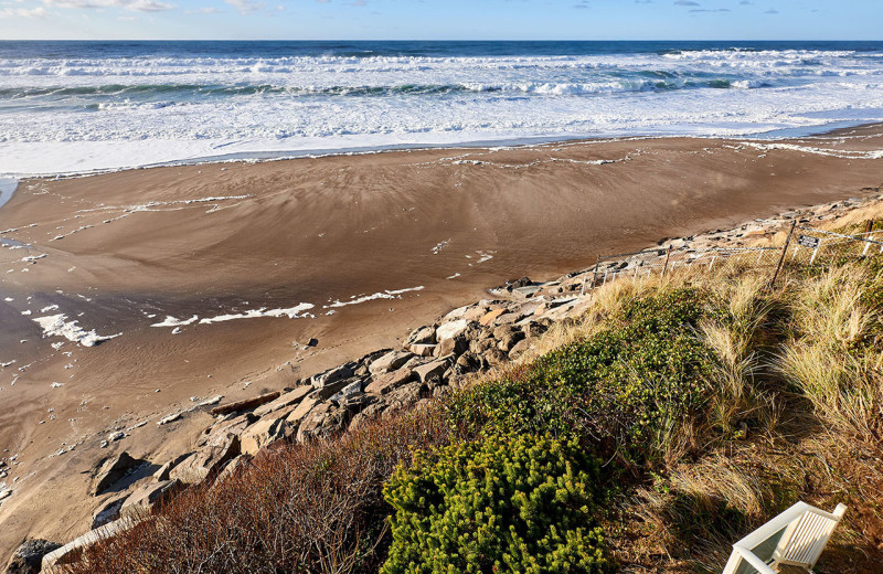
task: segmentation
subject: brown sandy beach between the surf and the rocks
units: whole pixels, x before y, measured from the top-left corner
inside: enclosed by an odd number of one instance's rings
[[[0,560],[25,535],[87,529],[85,472],[102,457],[183,451],[208,415],[156,422],[190,397],[291,384],[506,279],[880,191],[880,126],[781,144],[583,141],[22,182],[0,210],[0,231],[17,230],[0,233],[0,363],[15,361],[0,370],[0,458],[18,457],[0,479],[14,491]],[[334,306],[374,294],[387,298]],[[315,317],[199,322],[301,304]],[[60,313],[119,337],[43,337],[34,319]],[[151,327],[167,316],[199,319]],[[130,436],[100,448],[116,429]]]

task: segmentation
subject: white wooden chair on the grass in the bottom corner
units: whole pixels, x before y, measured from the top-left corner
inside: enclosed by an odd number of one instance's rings
[[[733,544],[723,574],[777,574],[780,565],[797,566],[811,574],[845,511],[843,504],[826,512],[797,502]]]

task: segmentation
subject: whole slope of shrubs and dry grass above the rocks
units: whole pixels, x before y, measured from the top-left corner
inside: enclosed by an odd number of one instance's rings
[[[545,351],[429,407],[259,457],[75,572],[720,572],[796,500],[819,573],[883,563],[883,264],[598,289]],[[385,499],[384,499],[385,497]]]

